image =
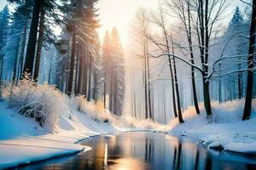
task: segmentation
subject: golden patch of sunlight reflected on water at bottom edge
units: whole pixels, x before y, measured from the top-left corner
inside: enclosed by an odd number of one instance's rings
[[[143,161],[134,158],[120,158],[113,160],[113,165],[108,169],[114,170],[133,170],[133,169],[148,169],[149,165]]]

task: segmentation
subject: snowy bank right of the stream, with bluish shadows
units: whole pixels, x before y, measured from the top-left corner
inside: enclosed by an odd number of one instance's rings
[[[256,156],[256,100],[253,100],[252,118],[244,122],[241,121],[243,103],[242,100],[222,105],[213,103],[212,122],[207,122],[204,111],[197,116],[191,108],[184,113],[183,124],[170,123],[169,134],[197,139],[209,149]]]

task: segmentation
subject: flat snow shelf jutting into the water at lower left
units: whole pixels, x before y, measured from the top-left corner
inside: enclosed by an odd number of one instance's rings
[[[0,169],[16,167],[56,156],[70,155],[81,150],[90,150],[80,144],[71,144],[49,139],[15,139],[0,141]]]

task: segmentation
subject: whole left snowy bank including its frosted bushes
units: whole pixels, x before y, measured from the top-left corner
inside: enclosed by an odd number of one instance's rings
[[[47,84],[29,87],[29,90],[23,85],[15,87],[11,105],[9,90],[3,90],[4,101],[0,102],[0,169],[90,150],[79,141],[102,133],[160,126],[148,120],[113,116],[102,109],[101,102],[96,105],[82,97],[69,99]],[[41,127],[35,118],[18,113],[24,101],[30,104],[35,100],[43,101],[42,111],[48,112],[45,119],[55,118],[55,124],[45,123]],[[42,103],[38,102],[38,105]],[[38,108],[37,105],[33,107]],[[108,122],[104,122],[106,119]]]

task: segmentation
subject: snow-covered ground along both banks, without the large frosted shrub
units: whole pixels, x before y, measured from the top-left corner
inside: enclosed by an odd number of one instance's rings
[[[7,101],[0,102],[0,169],[90,150],[79,141],[102,133],[142,130],[187,136],[211,149],[256,154],[256,100],[253,100],[252,119],[245,122],[241,122],[243,101],[236,100],[222,105],[213,102],[212,122],[207,122],[203,110],[198,116],[190,108],[183,113],[183,124],[175,119],[167,126],[131,117],[114,117],[97,111],[91,102],[78,111],[73,100],[66,100],[68,111],[61,112],[53,131],[40,127],[32,118],[21,116],[17,110],[9,108]],[[108,122],[103,121],[104,117]]]

